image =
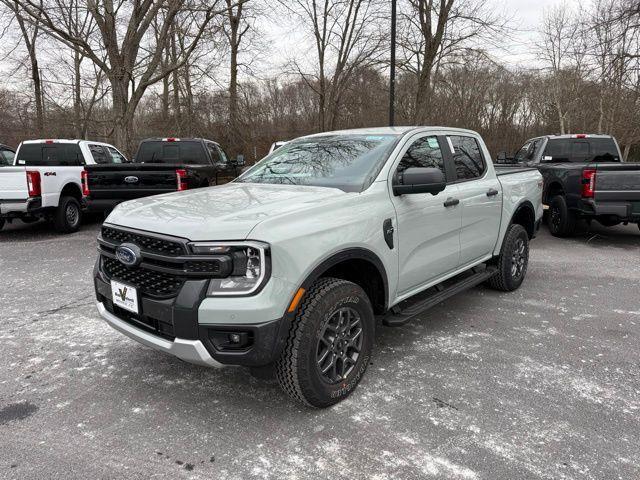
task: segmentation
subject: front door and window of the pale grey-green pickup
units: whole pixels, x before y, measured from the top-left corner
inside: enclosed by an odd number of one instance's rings
[[[445,142],[444,137],[435,135],[413,138],[403,152],[394,175],[409,167],[434,167],[440,168],[446,177]],[[457,268],[461,210],[460,205],[445,206],[448,199],[457,197],[457,193],[457,185],[451,183],[437,195],[392,196],[399,242],[398,296]]]

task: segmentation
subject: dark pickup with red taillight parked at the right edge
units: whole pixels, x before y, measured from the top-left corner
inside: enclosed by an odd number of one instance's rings
[[[547,135],[532,138],[515,157],[499,164],[536,167],[544,178],[542,202],[552,235],[574,233],[579,219],[611,227],[640,226],[640,163],[622,162],[609,135]]]

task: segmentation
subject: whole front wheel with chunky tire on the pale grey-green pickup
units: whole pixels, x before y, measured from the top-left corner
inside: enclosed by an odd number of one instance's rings
[[[359,320],[348,335],[338,333],[334,322],[351,325],[350,319],[356,318]],[[321,278],[306,292],[293,320],[289,338],[276,363],[278,383],[290,397],[307,406],[325,408],[340,402],[353,392],[369,365],[374,330],[371,302],[360,286],[342,279]],[[326,336],[334,335],[333,332],[336,332],[333,341],[327,341]],[[350,340],[352,337],[355,339]],[[353,344],[348,345],[350,341]],[[357,354],[356,350],[359,350]],[[327,351],[330,356],[323,357]],[[349,355],[356,358],[339,360]],[[336,369],[332,367],[323,373],[327,362],[336,358]],[[338,373],[327,378],[334,371],[344,370],[344,365],[349,367],[342,378],[336,380],[340,377]]]

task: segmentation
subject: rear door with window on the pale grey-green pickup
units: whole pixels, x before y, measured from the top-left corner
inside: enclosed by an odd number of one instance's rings
[[[502,187],[475,137],[449,135],[447,140],[461,204],[462,267],[493,252],[500,231]]]

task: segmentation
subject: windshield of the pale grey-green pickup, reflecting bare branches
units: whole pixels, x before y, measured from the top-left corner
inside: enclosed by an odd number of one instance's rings
[[[313,185],[361,192],[378,174],[396,135],[326,135],[295,140],[236,182]]]

